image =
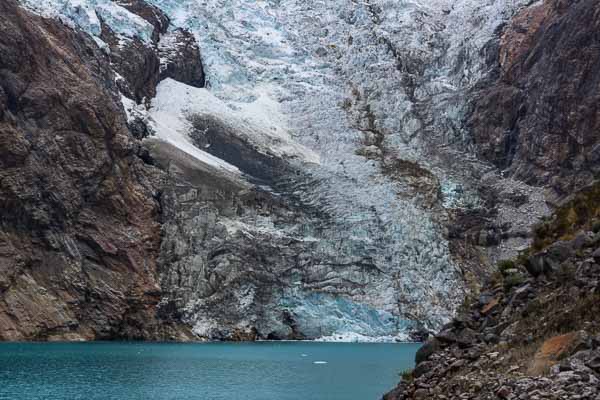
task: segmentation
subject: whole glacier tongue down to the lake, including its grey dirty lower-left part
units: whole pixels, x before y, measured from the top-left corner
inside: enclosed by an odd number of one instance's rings
[[[214,188],[167,196],[173,209],[195,203],[165,226],[176,259],[164,262],[165,302],[212,337],[249,327],[389,337],[447,322],[465,282],[445,207],[476,205],[469,174],[484,168],[469,161],[464,97],[487,73],[480,54],[494,31],[526,1],[149,2],[194,33],[208,87],[163,81],[149,110],[157,138],[237,173],[200,146],[193,121],[208,116],[290,166],[267,182],[275,199],[242,206],[233,191],[215,205]],[[25,4],[91,35],[99,16],[125,37],[152,33],[108,0]],[[264,257],[249,257],[255,248]]]

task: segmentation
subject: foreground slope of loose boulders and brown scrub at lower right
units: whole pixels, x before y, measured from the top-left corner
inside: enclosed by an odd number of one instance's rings
[[[599,187],[559,208],[516,262],[500,263],[384,399],[598,398]],[[564,231],[575,209],[585,218]]]

